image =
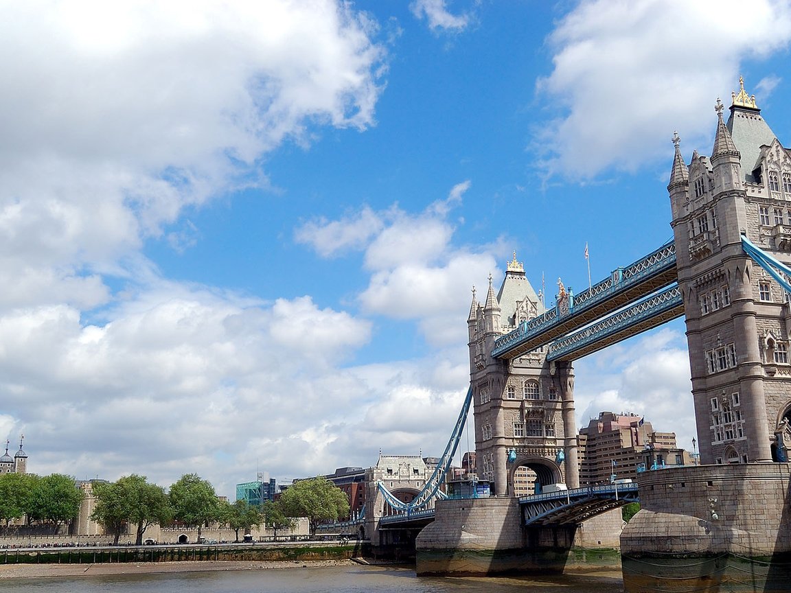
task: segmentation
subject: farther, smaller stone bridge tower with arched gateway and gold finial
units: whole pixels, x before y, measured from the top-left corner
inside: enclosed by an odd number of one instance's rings
[[[566,293],[561,293],[562,298]],[[492,482],[500,496],[513,496],[520,467],[533,470],[541,485],[579,485],[571,364],[547,363],[546,347],[513,360],[491,356],[496,338],[543,312],[516,253],[497,294],[491,276],[483,304],[473,290],[467,330],[475,465],[479,477]]]

